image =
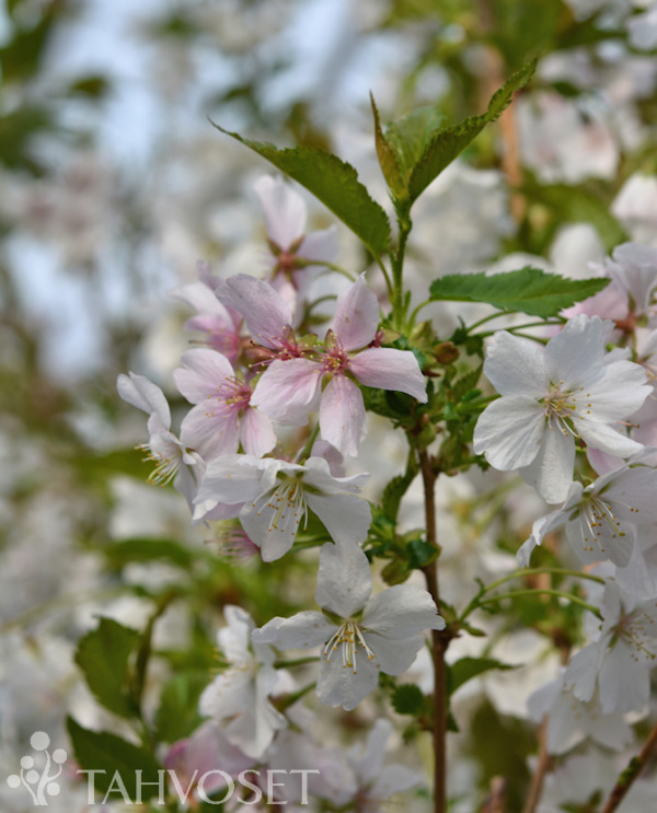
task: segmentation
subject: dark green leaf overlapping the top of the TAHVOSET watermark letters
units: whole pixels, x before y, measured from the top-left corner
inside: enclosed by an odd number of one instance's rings
[[[120,785],[128,799],[137,802],[158,795],[160,778],[155,757],[142,747],[122,740],[107,732],[89,731],[79,725],[71,717],[66,723],[76,759],[83,770],[102,771],[95,774],[94,787],[102,793],[110,794],[107,801],[126,801],[123,799]],[[138,793],[137,770],[141,770],[140,791]],[[116,776],[120,780],[116,780]],[[91,777],[89,777],[91,781]]]

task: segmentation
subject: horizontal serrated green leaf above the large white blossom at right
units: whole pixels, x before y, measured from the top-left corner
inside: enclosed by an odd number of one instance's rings
[[[431,282],[430,299],[486,302],[500,311],[549,318],[601,291],[608,279],[565,279],[529,266],[506,274],[452,274]]]

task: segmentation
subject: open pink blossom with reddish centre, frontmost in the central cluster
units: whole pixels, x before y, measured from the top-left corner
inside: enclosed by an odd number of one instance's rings
[[[366,434],[365,405],[357,384],[396,390],[427,400],[425,380],[408,350],[371,346],[379,304],[362,276],[337,298],[333,328],[316,360],[276,360],[255,386],[252,404],[281,423],[306,423],[319,408],[322,438],[356,456]],[[322,385],[326,382],[325,386]]]

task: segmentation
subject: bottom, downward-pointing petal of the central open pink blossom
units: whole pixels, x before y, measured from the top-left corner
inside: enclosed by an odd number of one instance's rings
[[[322,393],[320,405],[322,438],[343,454],[358,456],[366,435],[365,405],[360,390],[344,375],[337,375]]]

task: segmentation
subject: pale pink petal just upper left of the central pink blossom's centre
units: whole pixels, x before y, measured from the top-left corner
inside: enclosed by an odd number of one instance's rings
[[[275,348],[273,340],[292,322],[289,306],[272,286],[247,274],[221,280],[217,298],[242,314],[253,339],[265,347]]]

